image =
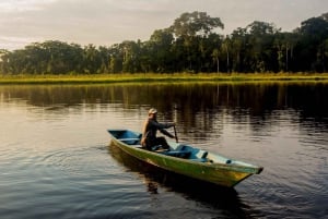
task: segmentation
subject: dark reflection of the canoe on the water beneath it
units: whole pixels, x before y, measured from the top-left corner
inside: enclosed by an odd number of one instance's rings
[[[194,180],[180,174],[167,172],[129,156],[114,144],[109,144],[108,153],[131,172],[136,172],[144,182],[151,194],[157,194],[159,187],[183,194],[188,199],[201,202],[238,218],[249,218],[249,206],[243,204],[234,188]],[[251,217],[250,217],[251,218]]]

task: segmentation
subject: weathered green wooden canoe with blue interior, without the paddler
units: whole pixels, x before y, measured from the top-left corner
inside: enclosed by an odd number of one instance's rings
[[[129,130],[108,130],[113,144],[144,162],[167,171],[213,184],[233,187],[263,168],[206,151],[186,144],[168,142],[169,150],[141,147],[141,134]]]

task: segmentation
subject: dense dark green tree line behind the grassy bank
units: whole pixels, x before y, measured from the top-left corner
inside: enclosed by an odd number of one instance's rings
[[[0,73],[327,72],[328,13],[302,22],[293,32],[259,21],[226,36],[218,34],[223,28],[220,17],[195,11],[154,31],[145,41],[109,47],[34,42],[0,50]]]

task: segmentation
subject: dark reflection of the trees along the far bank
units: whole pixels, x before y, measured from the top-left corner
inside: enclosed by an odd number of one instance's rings
[[[328,85],[320,83],[26,85],[1,86],[0,101],[22,99],[49,112],[73,108],[81,113],[85,105],[95,108],[102,104],[119,104],[120,109],[144,111],[152,106],[163,112],[163,119],[180,124],[180,131],[207,137],[214,121],[222,120],[225,114],[231,114],[236,123],[247,122],[259,131],[274,122],[276,111],[289,109],[300,113],[297,123],[311,120],[327,129],[326,94]]]

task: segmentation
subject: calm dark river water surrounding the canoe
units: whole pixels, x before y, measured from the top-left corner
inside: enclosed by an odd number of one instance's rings
[[[327,218],[328,84],[0,86],[0,218]],[[178,137],[265,167],[234,190],[125,156],[150,107]]]

